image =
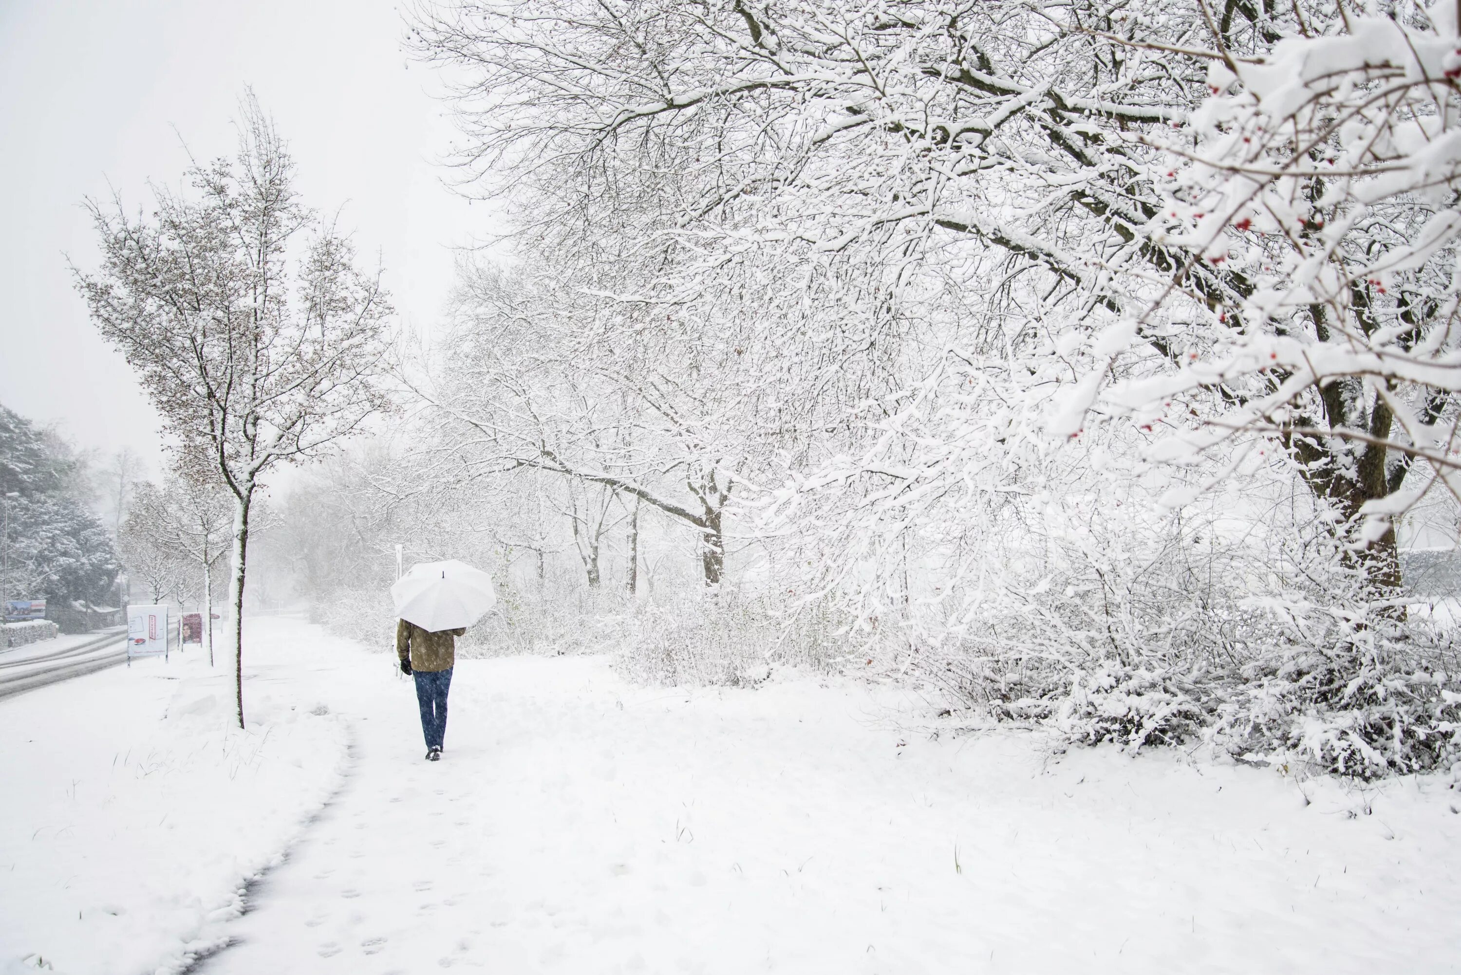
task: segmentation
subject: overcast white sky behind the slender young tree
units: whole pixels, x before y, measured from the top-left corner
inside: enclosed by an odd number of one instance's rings
[[[343,204],[408,327],[435,323],[451,245],[487,215],[443,184],[451,128],[434,76],[400,48],[389,0],[0,0],[0,403],[82,447],[161,466],[159,420],[101,342],[66,254],[95,263],[86,196],[177,184],[187,156],[231,155],[251,85],[310,206]]]

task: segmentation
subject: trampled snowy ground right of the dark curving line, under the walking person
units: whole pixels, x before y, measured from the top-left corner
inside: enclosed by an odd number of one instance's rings
[[[463,661],[428,765],[386,660],[321,687],[346,785],[205,975],[1461,965],[1441,782],[1305,807],[1274,772],[903,739],[897,698],[633,689],[593,658]]]

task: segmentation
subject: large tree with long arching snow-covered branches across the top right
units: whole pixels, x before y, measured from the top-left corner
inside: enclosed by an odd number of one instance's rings
[[[1451,177],[1446,149],[1416,146],[1448,144],[1451,19],[1446,3],[1376,16],[1332,0],[463,0],[431,7],[415,41],[459,83],[463,162],[485,191],[527,200],[527,225],[581,225],[595,207],[638,201],[621,187],[653,188],[662,206],[638,207],[652,216],[637,226],[693,247],[694,270],[676,273],[701,285],[768,254],[861,254],[896,271],[900,290],[951,257],[983,263],[964,280],[1004,317],[992,344],[1064,333],[1045,362],[1090,349],[1100,374],[1137,343],[1147,362],[1124,365],[1126,378],[1169,381],[1131,396],[1205,415],[1188,393],[1223,390],[1240,409],[1208,433],[1255,423],[1277,433],[1316,498],[1350,524],[1362,508],[1410,504],[1413,492],[1379,502],[1401,490],[1422,450],[1398,441],[1435,435],[1420,428],[1442,417],[1445,382],[1433,396],[1382,396],[1360,375],[1372,366],[1313,374],[1318,363],[1256,349],[1270,358],[1246,369],[1281,377],[1259,396],[1236,388],[1230,333],[1300,314],[1325,318],[1300,331],[1331,336],[1316,339],[1330,346],[1432,334],[1422,320],[1442,314],[1427,302],[1445,286],[1419,282],[1448,254],[1449,204],[1436,200]],[[1408,177],[1397,168],[1404,158],[1414,161]],[[1401,247],[1422,226],[1429,234]],[[1239,250],[1226,257],[1230,245]],[[1408,257],[1378,257],[1391,251]],[[1305,283],[1334,273],[1318,289]],[[1300,346],[1293,356],[1312,352]],[[1039,366],[1026,385],[1048,382]],[[1179,371],[1185,378],[1170,379]],[[1403,385],[1417,381],[1411,372]],[[1293,406],[1294,384],[1312,403],[1256,419]],[[1053,398],[1049,432],[1077,435],[1099,387],[1093,375]],[[1398,569],[1392,536],[1376,531],[1357,565],[1382,591]]]

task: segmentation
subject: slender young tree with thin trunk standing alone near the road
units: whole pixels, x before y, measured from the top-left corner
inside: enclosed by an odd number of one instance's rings
[[[102,250],[76,271],[92,321],[139,372],[186,476],[234,496],[232,604],[243,724],[250,512],[263,477],[330,450],[389,406],[378,381],[392,312],[378,274],[294,188],[283,139],[250,96],[234,161],[155,191],[150,217],[89,203]]]

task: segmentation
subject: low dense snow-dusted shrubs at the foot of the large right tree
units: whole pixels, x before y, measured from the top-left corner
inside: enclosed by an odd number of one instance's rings
[[[1230,517],[1198,527],[1202,543],[1179,534],[1202,523],[1183,521],[1156,552],[1132,552],[1131,524],[1094,550],[1059,540],[1046,575],[986,588],[915,670],[1084,743],[1205,739],[1359,778],[1461,759],[1454,639],[1373,600],[1321,523],[1213,546]]]

